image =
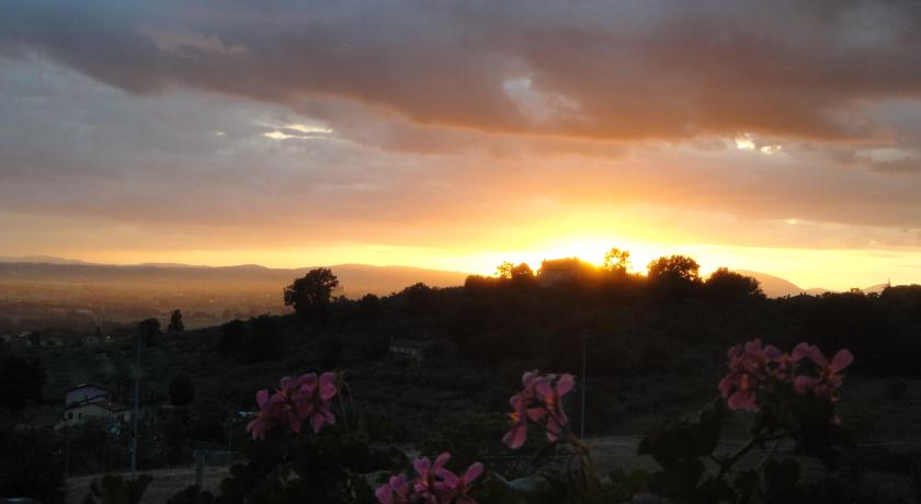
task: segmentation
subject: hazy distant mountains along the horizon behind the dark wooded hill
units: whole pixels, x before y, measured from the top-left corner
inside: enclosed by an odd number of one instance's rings
[[[255,288],[281,288],[294,278],[303,276],[311,267],[271,268],[258,264],[238,266],[196,266],[175,263],[145,263],[137,265],[94,264],[48,255],[23,257],[0,256],[0,280],[27,280],[36,283],[129,283],[139,285],[147,282],[157,284],[190,283],[196,287],[226,288],[227,286],[248,286]],[[371,266],[367,264],[339,264],[325,266],[332,270],[339,278],[341,294],[350,297],[364,294],[386,295],[402,288],[424,283],[433,287],[464,285],[468,273],[425,270],[410,266]],[[811,296],[829,291],[823,288],[803,288],[778,276],[766,273],[737,270],[737,273],[751,276],[761,283],[768,297]],[[886,284],[864,288],[864,293],[878,293]]]

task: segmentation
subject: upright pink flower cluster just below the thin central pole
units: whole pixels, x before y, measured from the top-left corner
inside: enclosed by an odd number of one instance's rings
[[[521,380],[524,389],[509,399],[512,428],[502,437],[502,443],[512,449],[520,448],[527,437],[530,424],[544,427],[547,439],[559,439],[569,423],[562,410],[562,397],[572,390],[572,375],[541,375],[534,370],[525,373]]]

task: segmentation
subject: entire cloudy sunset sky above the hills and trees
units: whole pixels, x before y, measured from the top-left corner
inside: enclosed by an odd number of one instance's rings
[[[0,3],[0,255],[921,283],[921,3]]]

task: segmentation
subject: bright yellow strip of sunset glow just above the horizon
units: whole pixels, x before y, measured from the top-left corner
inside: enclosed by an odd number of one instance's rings
[[[109,264],[183,263],[206,266],[234,266],[259,264],[266,267],[299,268],[338,264],[367,264],[373,266],[409,266],[441,271],[455,271],[491,276],[502,262],[527,263],[535,272],[544,260],[578,257],[595,266],[604,261],[611,248],[630,253],[630,271],[646,273],[650,261],[672,254],[689,255],[701,265],[706,277],[718,267],[753,271],[777,276],[806,288],[846,290],[885,284],[921,283],[914,274],[919,271],[917,254],[888,253],[885,256],[869,250],[807,250],[782,248],[754,248],[714,244],[670,245],[602,237],[580,236],[547,239],[503,250],[451,250],[423,247],[398,247],[363,243],[339,243],[317,248],[245,249],[163,251],[106,251],[105,253],[76,254],[75,259]],[[860,265],[857,268],[855,266]],[[829,272],[848,271],[829,282]],[[892,275],[890,272],[903,275]]]

